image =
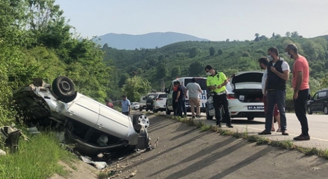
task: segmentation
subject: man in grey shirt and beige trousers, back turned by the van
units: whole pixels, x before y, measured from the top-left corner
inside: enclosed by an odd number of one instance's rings
[[[185,89],[186,98],[187,92],[189,91],[189,102],[191,107],[191,118],[195,118],[195,105],[196,105],[196,117],[200,118],[200,98],[199,93],[201,93],[201,88],[198,83],[196,83],[196,78],[191,79],[191,83],[188,83]]]

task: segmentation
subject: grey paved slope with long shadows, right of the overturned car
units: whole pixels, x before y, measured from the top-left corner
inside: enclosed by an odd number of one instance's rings
[[[328,178],[328,162],[317,156],[268,145],[256,146],[243,139],[200,132],[163,116],[148,116],[151,142],[154,145],[158,137],[158,146],[119,161],[118,165],[127,166],[120,176],[136,171],[133,176],[136,179]],[[235,126],[245,125],[237,123]],[[254,128],[263,126],[258,120],[249,123]]]

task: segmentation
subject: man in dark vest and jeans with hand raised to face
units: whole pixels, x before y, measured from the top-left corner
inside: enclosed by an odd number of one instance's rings
[[[285,101],[286,101],[286,81],[289,78],[289,64],[279,57],[277,48],[270,48],[268,50],[268,63],[267,72],[268,77],[265,80],[265,88],[263,97],[267,98],[267,114],[265,114],[265,129],[259,132],[259,135],[271,135],[272,117],[275,104],[277,104],[280,113],[280,128],[281,134],[288,136],[286,114],[285,114]]]

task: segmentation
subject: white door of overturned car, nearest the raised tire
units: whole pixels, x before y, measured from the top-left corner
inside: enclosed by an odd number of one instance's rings
[[[90,127],[95,127],[99,118],[99,104],[100,103],[83,96],[72,103],[64,112],[64,115]]]

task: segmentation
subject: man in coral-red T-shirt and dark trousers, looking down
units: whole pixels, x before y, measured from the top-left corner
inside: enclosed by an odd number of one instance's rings
[[[294,88],[294,107],[297,119],[301,123],[302,133],[294,138],[297,141],[310,140],[308,119],[306,118],[306,101],[309,99],[309,63],[305,57],[298,54],[294,43],[285,47],[285,54],[295,60],[293,65],[293,88]]]

